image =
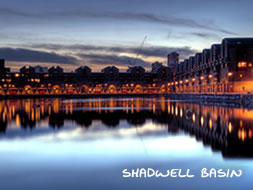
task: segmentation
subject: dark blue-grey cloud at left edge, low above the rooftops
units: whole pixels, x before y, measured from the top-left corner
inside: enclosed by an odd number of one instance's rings
[[[15,62],[59,63],[70,65],[76,65],[78,62],[73,56],[22,48],[0,48],[0,56],[7,61]]]

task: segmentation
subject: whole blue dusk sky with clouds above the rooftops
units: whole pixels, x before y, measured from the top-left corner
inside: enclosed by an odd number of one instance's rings
[[[252,7],[252,0],[1,0],[0,59],[12,71],[149,70],[172,51],[183,60],[225,37],[252,37]]]

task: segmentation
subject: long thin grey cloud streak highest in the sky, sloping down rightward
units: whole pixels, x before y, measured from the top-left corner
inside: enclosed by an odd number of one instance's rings
[[[19,16],[19,17],[28,17],[28,18],[39,18],[39,19],[61,19],[61,18],[71,18],[71,17],[81,17],[81,18],[90,18],[90,19],[112,19],[112,20],[126,20],[126,21],[140,21],[140,22],[149,22],[156,24],[163,24],[167,26],[179,26],[179,27],[188,27],[188,28],[197,28],[197,29],[206,29],[216,32],[221,32],[224,34],[235,34],[228,30],[219,28],[217,26],[206,25],[197,22],[194,19],[190,18],[181,18],[175,16],[162,16],[155,15],[151,13],[136,13],[136,12],[89,12],[81,10],[73,11],[46,11],[46,12],[23,12],[14,9],[0,9],[0,15],[6,16]]]

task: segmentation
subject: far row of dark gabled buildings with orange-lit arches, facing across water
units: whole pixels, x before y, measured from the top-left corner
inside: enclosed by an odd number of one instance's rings
[[[0,75],[0,95],[65,95],[65,94],[144,94],[167,93],[171,71],[161,66],[146,72],[141,66],[119,72],[108,66],[92,72],[81,66],[74,72],[64,72],[57,66],[47,68],[22,67],[10,72],[3,62]]]

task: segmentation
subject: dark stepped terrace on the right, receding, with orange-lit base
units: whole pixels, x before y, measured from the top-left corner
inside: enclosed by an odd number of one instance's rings
[[[174,93],[251,93],[253,38],[225,38],[221,44],[177,64]]]

